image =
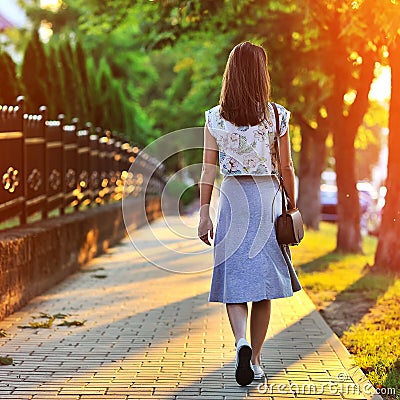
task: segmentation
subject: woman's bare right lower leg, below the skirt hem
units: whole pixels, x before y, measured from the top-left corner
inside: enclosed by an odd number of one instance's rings
[[[271,316],[271,300],[254,301],[251,306],[250,337],[253,354],[251,362],[260,365],[261,348]]]

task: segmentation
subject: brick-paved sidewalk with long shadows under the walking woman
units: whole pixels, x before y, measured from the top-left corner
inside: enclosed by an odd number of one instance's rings
[[[169,227],[160,219],[135,231],[136,245],[159,265],[206,270],[165,271],[126,239],[0,322],[7,333],[0,355],[14,359],[0,366],[1,400],[380,399],[365,393],[372,386],[304,291],[273,300],[262,354],[268,381],[238,386],[225,308],[207,301],[212,248],[184,239],[193,232],[193,216],[167,221]],[[180,257],[178,250],[193,255]],[[58,326],[56,319],[49,329],[18,328],[40,321],[32,317],[41,312],[86,323]]]

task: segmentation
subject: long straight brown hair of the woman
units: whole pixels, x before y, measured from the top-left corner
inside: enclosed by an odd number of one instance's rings
[[[269,120],[268,58],[251,42],[236,45],[229,54],[219,99],[221,116],[236,126],[258,125]]]

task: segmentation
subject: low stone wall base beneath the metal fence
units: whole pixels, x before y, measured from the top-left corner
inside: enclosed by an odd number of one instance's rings
[[[129,207],[137,228],[161,215],[160,198]],[[146,218],[147,216],[147,218]],[[127,216],[125,216],[127,217]],[[132,228],[133,227],[133,228]],[[51,288],[126,235],[121,203],[0,231],[0,319]]]

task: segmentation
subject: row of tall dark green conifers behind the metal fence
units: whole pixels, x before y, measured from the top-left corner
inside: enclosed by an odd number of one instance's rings
[[[82,124],[91,122],[141,146],[148,144],[149,137],[142,132],[149,119],[135,97],[139,88],[127,84],[107,56],[88,54],[81,39],[72,42],[57,37],[43,44],[35,31],[25,49],[20,76],[5,53],[0,53],[0,70],[4,77],[0,103],[14,104],[22,94],[27,112],[36,113],[46,105],[49,118],[62,113],[67,122],[77,117]]]

